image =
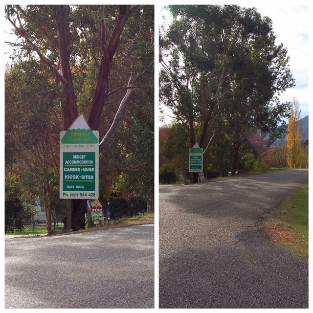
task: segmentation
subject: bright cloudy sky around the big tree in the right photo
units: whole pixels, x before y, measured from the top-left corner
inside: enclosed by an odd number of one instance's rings
[[[276,44],[282,43],[288,49],[289,65],[296,85],[292,89],[287,89],[280,100],[282,102],[292,101],[293,98],[298,100],[301,117],[304,117],[309,114],[309,5],[295,5],[294,2],[293,4],[288,2],[270,4],[268,1],[263,1],[264,4],[257,3],[260,1],[236,2],[241,7],[255,7],[262,16],[268,16],[272,20]],[[164,15],[164,11],[161,11],[162,14]],[[162,23],[161,17],[159,23]],[[170,111],[165,112],[171,115]],[[171,121],[168,116],[164,118],[166,123]]]

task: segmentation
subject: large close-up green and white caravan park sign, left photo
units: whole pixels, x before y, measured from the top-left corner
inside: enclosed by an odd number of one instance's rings
[[[80,114],[60,135],[60,198],[98,199],[99,133]]]

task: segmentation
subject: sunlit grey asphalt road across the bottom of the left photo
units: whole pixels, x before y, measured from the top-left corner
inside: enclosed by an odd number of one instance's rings
[[[5,308],[154,305],[154,224],[5,239]]]

